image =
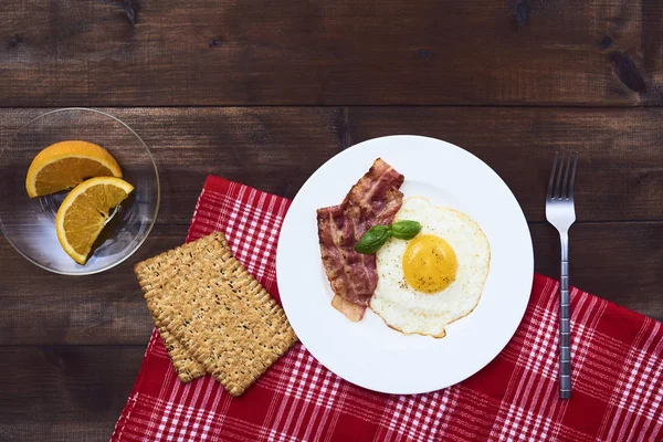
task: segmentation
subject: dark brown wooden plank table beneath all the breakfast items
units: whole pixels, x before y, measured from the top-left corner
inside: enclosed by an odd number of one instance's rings
[[[152,149],[162,206],[96,276],[0,241],[0,440],[109,438],[152,328],[131,267],[185,240],[208,173],[292,198],[388,134],[491,165],[552,276],[546,179],[578,151],[572,283],[663,319],[662,105],[659,0],[1,1],[2,140],[50,108],[103,108]]]

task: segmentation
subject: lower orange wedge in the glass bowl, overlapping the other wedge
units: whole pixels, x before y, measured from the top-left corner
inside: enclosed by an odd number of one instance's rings
[[[122,178],[91,178],[76,186],[62,201],[55,215],[60,244],[74,261],[85,264],[92,245],[134,186]]]

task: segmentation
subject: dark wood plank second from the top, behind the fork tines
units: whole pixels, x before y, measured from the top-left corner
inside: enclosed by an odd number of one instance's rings
[[[576,189],[579,221],[663,220],[661,108],[107,110],[133,126],[154,150],[161,175],[158,222],[162,224],[189,223],[208,173],[293,198],[338,151],[399,133],[438,137],[477,155],[512,188],[529,221],[545,221],[545,191],[556,150],[580,155]],[[0,119],[3,138],[42,112],[4,110]],[[14,166],[28,168],[7,167]]]

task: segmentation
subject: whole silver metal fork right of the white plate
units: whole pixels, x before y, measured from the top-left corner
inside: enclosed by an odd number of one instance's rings
[[[561,296],[559,298],[559,397],[571,397],[571,340],[569,312],[569,228],[576,221],[573,206],[573,181],[578,156],[561,154],[557,161],[555,154],[548,196],[546,197],[546,219],[559,232],[561,245]]]

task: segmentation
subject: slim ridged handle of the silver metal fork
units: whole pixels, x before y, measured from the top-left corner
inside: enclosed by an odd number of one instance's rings
[[[569,298],[569,234],[560,232],[561,293],[559,298],[559,398],[571,397],[571,325]]]

